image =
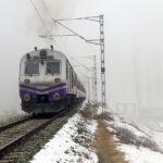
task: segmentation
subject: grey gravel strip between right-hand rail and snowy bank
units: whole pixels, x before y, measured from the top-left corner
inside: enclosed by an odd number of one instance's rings
[[[10,152],[0,161],[0,163],[28,163],[33,155],[41,149],[52,135],[54,135],[75,112],[76,110],[74,109],[67,114],[54,120],[37,135],[29,137],[28,141],[25,141],[24,145],[20,145],[16,149]]]

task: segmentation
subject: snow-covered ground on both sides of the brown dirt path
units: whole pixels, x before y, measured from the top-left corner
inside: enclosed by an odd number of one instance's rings
[[[80,110],[85,110],[85,104]],[[99,108],[97,114],[101,113]],[[163,162],[163,123],[130,122],[111,111],[106,114],[108,129],[114,134],[117,149],[128,163]],[[91,148],[96,128],[96,121],[88,121],[76,113],[30,163],[97,163],[98,156]]]

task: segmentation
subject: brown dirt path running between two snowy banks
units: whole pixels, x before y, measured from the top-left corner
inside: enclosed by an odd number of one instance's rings
[[[96,109],[92,108],[95,114]],[[93,147],[97,151],[99,163],[127,163],[124,155],[116,149],[116,142],[113,135],[106,129],[102,118],[97,118],[98,128],[93,141]]]

